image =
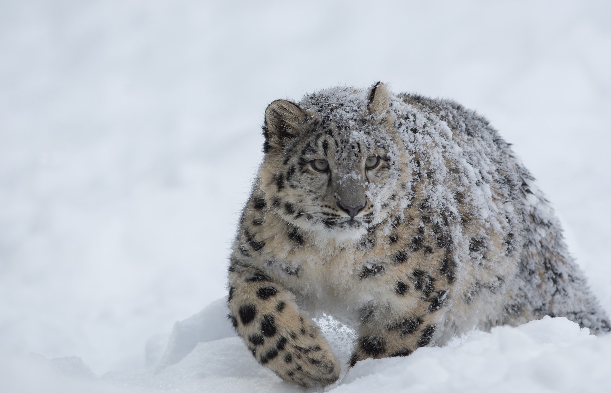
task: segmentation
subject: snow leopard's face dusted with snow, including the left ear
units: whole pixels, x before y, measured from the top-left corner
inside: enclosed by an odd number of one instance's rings
[[[367,107],[321,114],[316,102],[304,106],[307,112],[274,101],[266,112],[266,200],[305,231],[357,239],[383,222],[404,194],[397,184],[400,149],[392,130],[368,115]]]

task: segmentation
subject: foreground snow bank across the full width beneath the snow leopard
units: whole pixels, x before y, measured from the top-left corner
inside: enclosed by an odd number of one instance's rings
[[[76,357],[40,355],[0,367],[7,392],[304,392],[260,366],[214,301],[175,323],[167,348],[147,371],[95,377]],[[353,330],[329,315],[316,319],[346,364]],[[4,366],[7,366],[7,362]],[[596,337],[560,317],[545,317],[490,333],[472,331],[445,347],[424,347],[403,358],[367,359],[343,367],[332,392],[602,392],[611,386],[611,334]],[[13,372],[11,372],[13,370]],[[18,372],[15,372],[17,370]]]

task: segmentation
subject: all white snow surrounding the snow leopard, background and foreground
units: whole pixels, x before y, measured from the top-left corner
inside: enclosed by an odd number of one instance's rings
[[[337,84],[486,115],[611,314],[610,16],[604,1],[0,2],[0,391],[302,391],[214,301],[266,104]],[[350,332],[323,322],[344,356]],[[611,336],[546,319],[359,362],[335,390],[608,391],[608,370]]]

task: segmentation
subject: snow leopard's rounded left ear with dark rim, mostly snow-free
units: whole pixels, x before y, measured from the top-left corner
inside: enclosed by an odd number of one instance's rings
[[[263,152],[268,153],[274,148],[282,150],[287,140],[299,135],[306,118],[305,112],[299,106],[285,99],[277,99],[269,104],[265,110]]]

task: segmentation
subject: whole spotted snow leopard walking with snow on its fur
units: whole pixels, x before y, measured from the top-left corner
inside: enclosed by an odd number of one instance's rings
[[[545,315],[610,331],[551,204],[474,111],[381,82],[335,87],[273,101],[263,136],[227,300],[280,378],[340,375],[312,309],[356,326],[346,367]]]

